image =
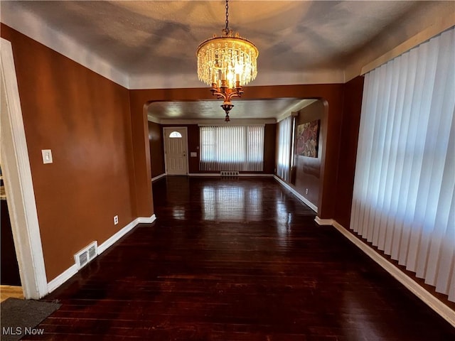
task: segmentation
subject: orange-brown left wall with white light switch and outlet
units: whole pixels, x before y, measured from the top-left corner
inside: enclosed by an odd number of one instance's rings
[[[50,281],[137,217],[129,92],[4,24],[1,37],[13,47]]]

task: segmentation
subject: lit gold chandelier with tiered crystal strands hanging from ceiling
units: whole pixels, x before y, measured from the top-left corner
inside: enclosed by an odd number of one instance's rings
[[[228,27],[229,5],[226,0],[226,27],[223,36],[213,35],[198,46],[198,78],[207,85],[218,99],[223,98],[221,107],[226,112],[225,121],[230,121],[229,112],[234,104],[232,97],[242,97],[242,85],[247,85],[257,75],[257,50],[255,44],[239,33],[232,35]]]

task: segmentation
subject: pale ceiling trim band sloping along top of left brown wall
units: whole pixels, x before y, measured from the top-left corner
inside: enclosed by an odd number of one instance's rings
[[[2,1],[4,3],[4,1]],[[10,6],[1,4],[1,21],[26,36],[65,55],[76,63],[87,67],[108,80],[112,80],[122,87],[129,88],[129,77],[115,69],[106,60],[95,55],[84,46],[76,43],[73,38],[64,33],[53,30],[38,16],[25,9],[11,10]]]

